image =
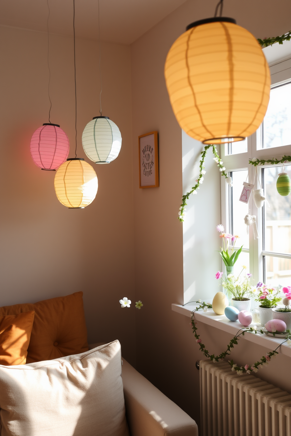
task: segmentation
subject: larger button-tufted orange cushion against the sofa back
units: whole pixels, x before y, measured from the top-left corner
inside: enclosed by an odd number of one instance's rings
[[[0,316],[27,310],[35,312],[26,363],[58,359],[88,351],[82,296],[82,292],[75,292],[34,304],[0,307]]]

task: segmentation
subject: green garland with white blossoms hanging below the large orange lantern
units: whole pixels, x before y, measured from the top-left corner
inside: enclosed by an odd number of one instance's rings
[[[212,152],[214,154],[215,157],[213,157],[213,160],[215,160],[217,166],[219,167],[219,171],[221,172],[221,175],[224,176],[226,178],[226,181],[231,184],[231,177],[228,177],[228,175],[225,172],[225,167],[223,167],[223,161],[220,159],[220,157],[217,154],[217,150],[216,150],[216,146],[214,144],[209,144],[206,145],[205,147],[203,147],[201,155],[202,155],[202,159],[200,160],[200,165],[199,165],[199,176],[196,179],[196,184],[195,186],[192,187],[191,191],[187,192],[187,194],[183,195],[183,197],[181,198],[182,200],[182,204],[180,206],[179,209],[179,216],[178,219],[180,220],[180,222],[183,222],[183,218],[185,215],[185,206],[187,206],[186,200],[189,199],[189,196],[191,194],[197,194],[197,190],[199,189],[199,185],[202,184],[204,178],[203,175],[206,173],[206,171],[204,170],[204,161],[205,161],[205,156],[207,153],[207,150],[212,147]]]

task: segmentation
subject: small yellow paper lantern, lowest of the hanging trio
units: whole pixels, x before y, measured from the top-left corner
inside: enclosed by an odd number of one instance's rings
[[[97,190],[96,173],[84,159],[68,159],[55,174],[55,193],[68,208],[85,208],[92,203]]]

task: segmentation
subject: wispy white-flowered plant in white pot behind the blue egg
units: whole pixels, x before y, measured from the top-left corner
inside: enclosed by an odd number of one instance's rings
[[[221,279],[221,285],[226,290],[226,294],[231,299],[231,305],[236,307],[239,311],[247,310],[250,312],[250,295],[251,295],[251,274],[244,274],[242,272],[246,269],[243,266],[240,274],[234,276],[232,273],[228,274],[226,280],[222,279],[222,272],[216,273],[216,279]]]

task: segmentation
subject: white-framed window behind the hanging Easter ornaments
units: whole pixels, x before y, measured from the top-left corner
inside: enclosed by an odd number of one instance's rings
[[[243,245],[234,272],[239,273],[244,265],[253,275],[254,283],[260,280],[284,286],[291,285],[291,194],[283,197],[277,192],[282,164],[259,165],[257,169],[249,165],[253,157],[273,159],[291,155],[291,59],[270,70],[273,85],[262,125],[246,141],[221,146],[223,165],[233,178],[233,187],[221,184],[222,224],[227,232],[240,235],[237,248]],[[287,163],[284,171],[291,178],[291,164]],[[252,196],[248,204],[239,201],[244,181],[253,183],[254,189],[262,186],[267,198],[263,208],[256,208]],[[246,232],[244,217],[249,213],[256,216],[258,239],[253,236],[252,227],[249,235]]]

